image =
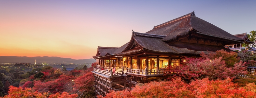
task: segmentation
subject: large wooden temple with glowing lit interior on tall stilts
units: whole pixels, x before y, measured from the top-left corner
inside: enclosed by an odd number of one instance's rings
[[[194,11],[145,33],[132,31],[131,40],[119,48],[98,46],[93,56],[98,65],[92,71],[95,92],[104,96],[110,90],[131,89],[137,82],[167,78],[175,73],[167,73],[165,69],[179,66],[182,56],[199,57],[202,52],[222,49],[232,51],[225,46],[241,43],[251,41],[196,17]]]

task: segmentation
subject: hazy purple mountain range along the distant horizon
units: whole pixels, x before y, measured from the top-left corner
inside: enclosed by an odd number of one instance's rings
[[[53,62],[53,63],[94,63],[95,59],[72,59],[72,58],[62,58],[62,57],[48,57],[48,56],[37,56],[37,57],[27,57],[27,56],[0,56],[0,63],[31,63],[34,64],[36,60],[37,63],[41,62]]]

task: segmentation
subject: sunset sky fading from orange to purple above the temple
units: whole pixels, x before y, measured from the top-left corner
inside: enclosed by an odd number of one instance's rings
[[[231,34],[256,30],[256,0],[0,0],[0,56],[92,58],[193,10]]]

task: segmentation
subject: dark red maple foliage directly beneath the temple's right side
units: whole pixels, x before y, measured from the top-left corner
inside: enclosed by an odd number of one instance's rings
[[[191,79],[203,79],[209,77],[210,80],[236,78],[236,74],[246,74],[245,63],[239,62],[232,67],[228,67],[222,57],[209,58],[189,58],[184,57],[187,62],[180,66],[169,66],[167,71],[175,72],[178,75]]]

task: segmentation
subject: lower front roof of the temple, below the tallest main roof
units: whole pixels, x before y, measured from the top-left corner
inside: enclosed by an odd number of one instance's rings
[[[189,54],[200,54],[201,52],[208,51],[217,51],[217,50],[226,50],[232,51],[225,47],[217,47],[217,46],[210,46],[210,45],[199,45],[199,44],[190,44],[190,43],[173,43],[172,45],[168,45],[167,43],[163,42],[161,38],[165,36],[163,35],[153,35],[153,34],[145,34],[145,33],[138,33],[133,32],[132,39],[141,47],[135,50],[128,50],[122,53],[118,53],[117,55],[125,55],[140,52],[142,50],[150,50],[154,52],[162,52],[162,53],[189,53]],[[129,44],[133,44],[133,41],[130,41]],[[126,46],[130,46],[130,45]],[[129,48],[129,47],[127,47]]]

